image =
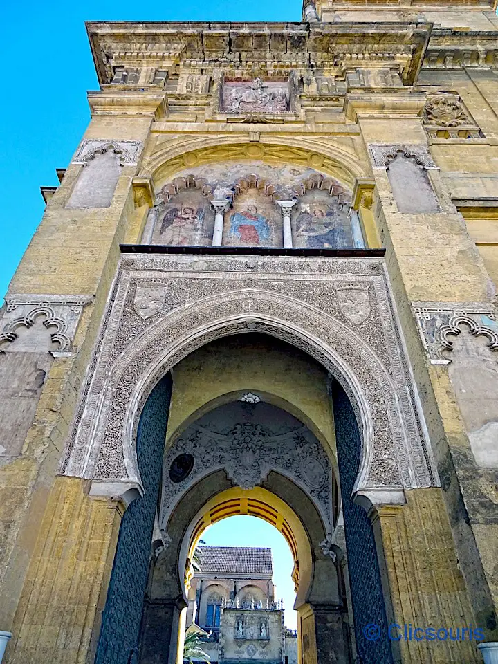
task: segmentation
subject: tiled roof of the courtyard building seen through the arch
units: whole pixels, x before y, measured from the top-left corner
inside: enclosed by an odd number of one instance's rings
[[[199,546],[203,572],[272,574],[271,548],[262,546]]]

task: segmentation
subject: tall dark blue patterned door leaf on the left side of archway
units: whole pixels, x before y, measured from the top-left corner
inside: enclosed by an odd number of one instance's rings
[[[131,503],[122,518],[95,664],[137,661],[171,390],[167,374],[151,392],[138,424],[137,457],[144,495]]]

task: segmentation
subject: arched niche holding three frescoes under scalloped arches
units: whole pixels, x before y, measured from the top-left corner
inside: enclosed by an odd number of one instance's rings
[[[142,242],[282,247],[284,210],[278,201],[291,202],[293,246],[365,247],[349,187],[312,167],[261,160],[194,167],[160,182]],[[220,219],[217,239],[215,211]]]

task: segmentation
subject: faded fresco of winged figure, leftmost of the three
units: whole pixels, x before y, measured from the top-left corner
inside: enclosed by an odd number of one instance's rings
[[[152,244],[209,246],[214,228],[214,212],[200,192],[180,192],[163,210],[158,219]]]

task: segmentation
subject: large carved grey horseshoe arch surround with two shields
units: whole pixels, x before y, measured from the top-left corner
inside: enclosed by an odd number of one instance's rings
[[[437,483],[383,261],[255,260],[122,257],[61,472],[102,493],[140,487],[136,427],[152,387],[194,349],[255,330],[309,353],[347,390],[364,447],[358,490]]]

